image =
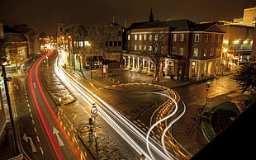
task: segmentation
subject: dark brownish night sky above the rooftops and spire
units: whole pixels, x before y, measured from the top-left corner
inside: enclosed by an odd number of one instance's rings
[[[0,0],[0,23],[29,24],[54,34],[56,23],[64,21],[83,25],[109,25],[115,21],[127,26],[148,21],[150,7],[154,19],[190,21],[233,20],[242,17],[244,8],[256,0]]]

